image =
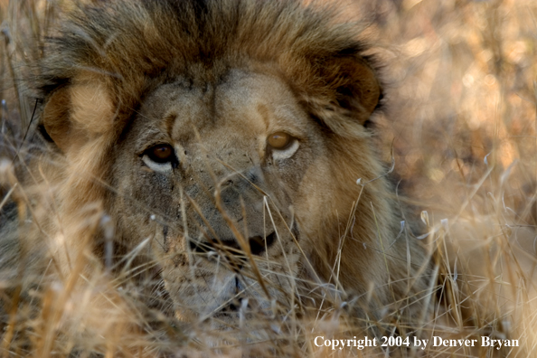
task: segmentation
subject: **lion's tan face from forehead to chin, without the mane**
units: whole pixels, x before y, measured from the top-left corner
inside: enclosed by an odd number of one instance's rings
[[[292,294],[301,228],[322,222],[331,173],[321,129],[283,80],[172,80],[122,138],[111,153],[118,226],[150,240],[179,316],[232,315],[245,297],[268,309]]]

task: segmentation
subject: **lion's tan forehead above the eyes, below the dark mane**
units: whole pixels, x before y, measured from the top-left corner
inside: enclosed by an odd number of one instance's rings
[[[183,145],[265,146],[270,133],[296,137],[311,132],[306,112],[278,77],[230,71],[223,79],[193,85],[182,78],[155,89],[142,104],[139,145],[165,134]],[[153,139],[153,138],[151,138]],[[245,148],[246,149],[246,148]]]

